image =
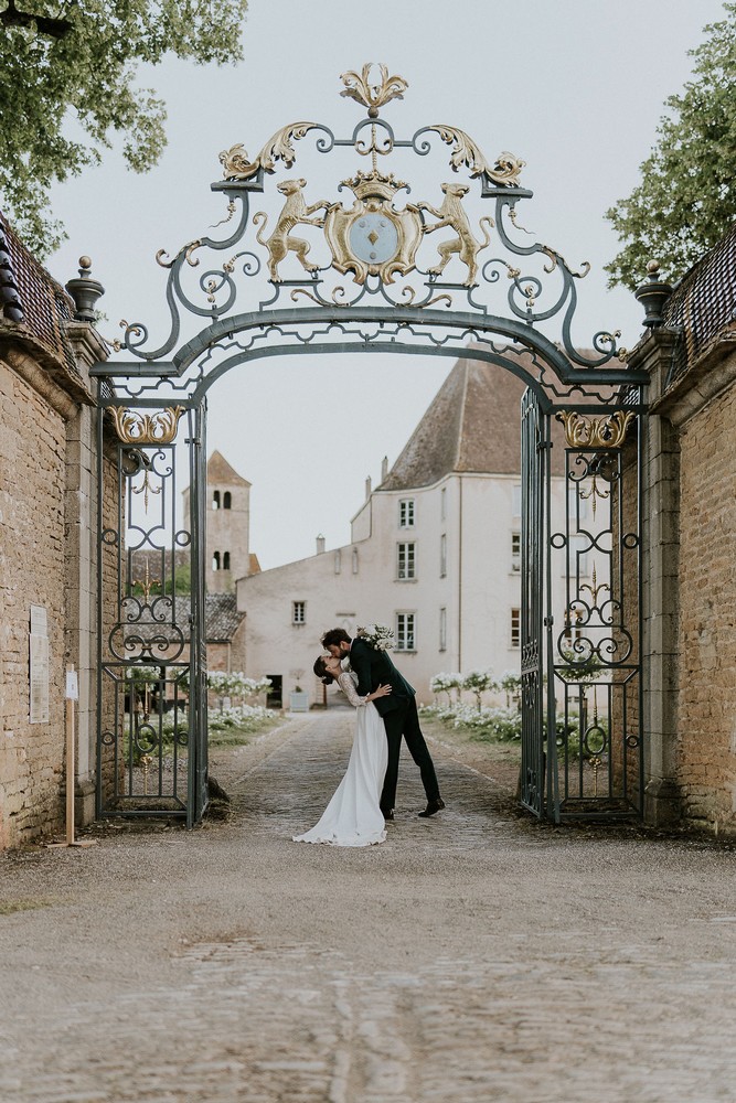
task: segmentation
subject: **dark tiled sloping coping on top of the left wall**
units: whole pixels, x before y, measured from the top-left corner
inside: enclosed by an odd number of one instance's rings
[[[0,213],[0,308],[2,320],[14,322],[56,361],[78,377],[79,372],[62,322],[74,318],[74,303],[29,253]]]

